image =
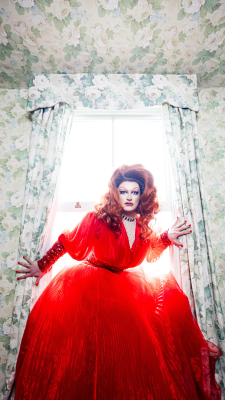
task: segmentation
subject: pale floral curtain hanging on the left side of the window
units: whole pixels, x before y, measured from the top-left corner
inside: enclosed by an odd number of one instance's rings
[[[57,103],[33,112],[18,259],[26,256],[38,260],[42,256],[43,237],[60,171],[65,138],[71,127],[72,110],[73,107],[66,103]],[[16,283],[6,366],[6,379],[11,382],[11,387],[31,301],[37,297],[35,293],[39,290],[35,281],[36,278],[29,278]]]

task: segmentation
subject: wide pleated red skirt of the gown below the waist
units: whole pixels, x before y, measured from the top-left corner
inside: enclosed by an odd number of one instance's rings
[[[220,400],[215,362],[172,273],[64,268],[27,321],[15,400]]]

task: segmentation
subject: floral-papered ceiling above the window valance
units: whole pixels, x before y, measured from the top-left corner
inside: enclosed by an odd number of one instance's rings
[[[225,86],[224,0],[1,0],[0,87],[32,73],[197,74]]]

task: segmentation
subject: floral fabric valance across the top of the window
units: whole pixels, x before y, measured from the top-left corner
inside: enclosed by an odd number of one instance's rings
[[[199,111],[196,75],[34,74],[28,111],[57,103],[97,109],[132,109],[170,104]]]

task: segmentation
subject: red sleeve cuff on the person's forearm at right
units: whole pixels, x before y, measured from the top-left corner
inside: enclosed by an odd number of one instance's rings
[[[159,236],[156,232],[153,232],[150,238],[150,245],[146,255],[147,262],[155,262],[157,261],[164,250],[171,244],[170,239],[168,238],[168,230],[161,233]]]

